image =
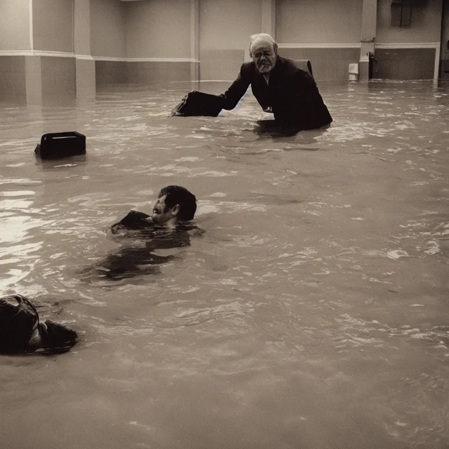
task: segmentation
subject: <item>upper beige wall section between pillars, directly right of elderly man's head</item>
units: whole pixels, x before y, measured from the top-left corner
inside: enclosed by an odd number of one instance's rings
[[[276,39],[280,44],[359,44],[362,4],[362,0],[277,0]]]

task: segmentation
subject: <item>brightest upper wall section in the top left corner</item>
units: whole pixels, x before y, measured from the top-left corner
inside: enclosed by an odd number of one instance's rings
[[[31,50],[28,0],[0,0],[0,51]]]

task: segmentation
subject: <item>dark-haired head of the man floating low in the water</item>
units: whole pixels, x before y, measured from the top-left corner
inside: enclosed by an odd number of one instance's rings
[[[189,221],[196,211],[195,195],[185,187],[168,185],[159,192],[153,206],[151,219],[164,226],[174,226],[178,221]]]

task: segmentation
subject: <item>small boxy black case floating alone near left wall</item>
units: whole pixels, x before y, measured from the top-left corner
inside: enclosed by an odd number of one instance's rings
[[[62,159],[86,154],[86,136],[76,131],[44,134],[35,154],[42,159]]]

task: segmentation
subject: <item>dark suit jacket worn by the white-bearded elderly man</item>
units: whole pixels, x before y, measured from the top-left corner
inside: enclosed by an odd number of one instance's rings
[[[223,109],[234,109],[250,84],[259,104],[271,107],[280,125],[314,129],[332,122],[312,75],[290,59],[277,57],[268,85],[254,62],[244,63],[237,80],[221,94]]]

